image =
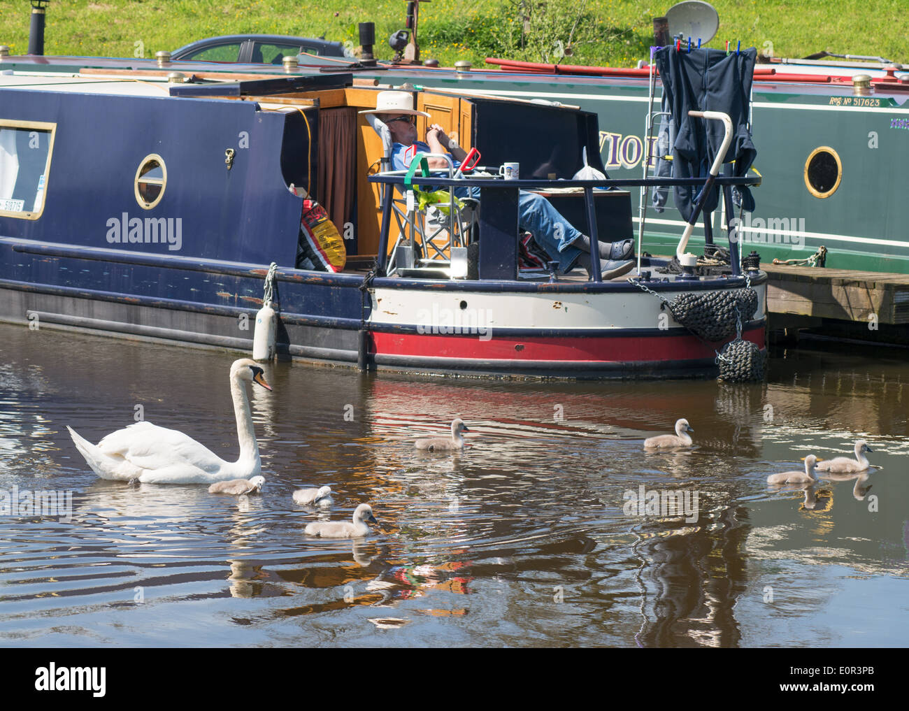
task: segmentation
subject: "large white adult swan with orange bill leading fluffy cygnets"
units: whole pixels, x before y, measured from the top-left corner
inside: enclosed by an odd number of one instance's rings
[[[240,439],[240,458],[235,462],[225,462],[182,432],[150,422],[118,429],[105,436],[97,446],[76,434],[72,427],[66,429],[88,466],[103,479],[137,479],[143,484],[211,484],[228,479],[248,479],[259,474],[260,461],[244,381],[272,389],[255,361],[242,358],[231,366],[230,391]]]

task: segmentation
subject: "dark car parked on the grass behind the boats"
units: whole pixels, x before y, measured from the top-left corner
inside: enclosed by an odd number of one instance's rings
[[[171,52],[171,60],[280,65],[285,56],[301,52],[345,56],[344,45],[324,39],[287,35],[223,35],[200,39],[175,49]]]

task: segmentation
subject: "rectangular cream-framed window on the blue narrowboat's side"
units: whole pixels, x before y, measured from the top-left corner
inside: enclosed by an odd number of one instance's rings
[[[0,215],[36,220],[45,209],[56,125],[0,123]]]

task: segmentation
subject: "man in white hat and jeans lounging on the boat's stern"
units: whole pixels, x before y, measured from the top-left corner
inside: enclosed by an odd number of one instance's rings
[[[457,168],[467,155],[460,145],[445,135],[442,126],[431,125],[426,131],[426,140],[416,140],[416,116],[429,118],[423,111],[415,111],[413,96],[408,92],[379,92],[375,111],[361,111],[361,114],[377,114],[388,126],[394,145],[392,146],[393,170],[405,170],[409,161],[405,160],[405,149],[416,144],[416,150],[423,153],[450,153]],[[445,158],[427,158],[431,169],[439,170],[448,167]],[[475,189],[474,189],[475,190]],[[458,197],[468,196],[467,188],[455,188]],[[478,191],[476,191],[478,192]],[[479,195],[469,195],[479,196]],[[583,235],[574,225],[568,222],[542,195],[521,190],[518,196],[518,226],[534,235],[534,241],[559,263],[563,274],[571,271],[575,265],[583,266],[587,275],[591,275],[590,239]],[[634,240],[622,242],[599,243],[600,258],[604,260],[600,267],[603,279],[627,274],[634,268]]]

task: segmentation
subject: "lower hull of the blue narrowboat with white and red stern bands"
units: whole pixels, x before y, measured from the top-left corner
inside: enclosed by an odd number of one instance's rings
[[[261,293],[267,269],[263,265],[250,269],[247,277],[225,278],[224,284],[236,290],[236,301],[248,304],[245,306],[4,279],[0,280],[0,320],[35,331],[71,328],[248,353],[253,349],[255,315],[261,305],[261,296],[254,294]],[[285,276],[291,278],[285,281]],[[305,305],[337,300],[358,303],[362,279],[351,283],[337,279],[343,275],[333,275],[335,278],[326,276],[307,283],[305,275],[300,275],[300,280],[295,276],[279,275],[282,302],[276,350],[278,357],[314,364],[357,367],[362,358],[361,331],[367,334],[365,357],[371,369],[438,375],[567,379],[709,376],[715,372],[716,351],[722,347],[695,337],[667,316],[661,319],[665,312],[660,302],[642,292],[510,292],[507,284],[497,285],[501,290],[494,292],[478,292],[445,289],[445,283],[438,283],[427,295],[430,284],[408,288],[403,280],[375,279],[369,289],[369,317],[361,322],[327,308],[305,310]],[[164,271],[162,277],[166,278]],[[753,281],[761,296],[760,317],[745,323],[742,331],[745,340],[762,350],[764,280],[761,274]],[[729,288],[742,285],[744,281],[733,281]],[[663,295],[671,300],[679,293],[684,289]],[[461,303],[468,306],[462,310]],[[295,307],[301,310],[287,310]],[[553,317],[527,318],[547,308]],[[391,309],[401,312],[393,314]],[[469,316],[446,317],[460,313]],[[499,325],[509,323],[508,314],[518,318],[522,313],[524,323],[537,325]]]

